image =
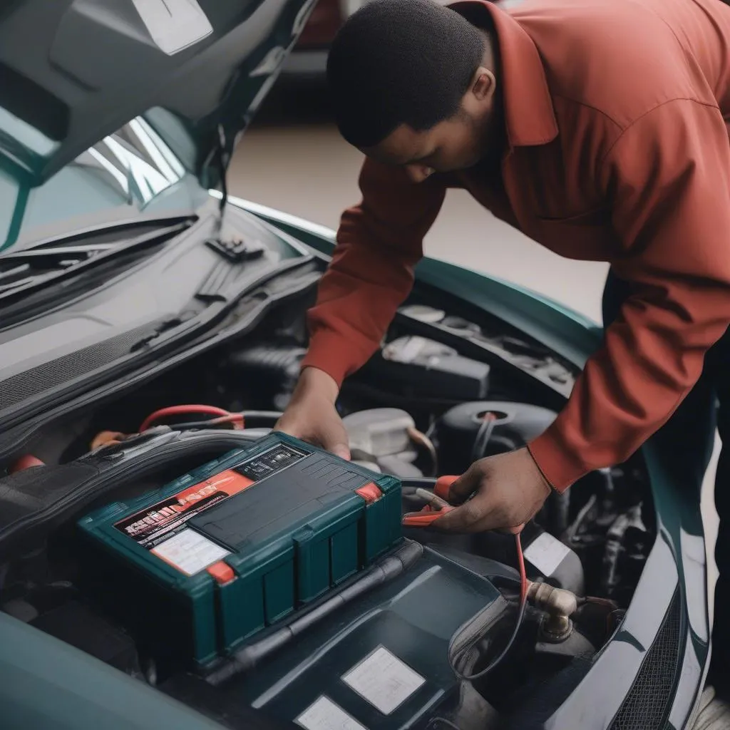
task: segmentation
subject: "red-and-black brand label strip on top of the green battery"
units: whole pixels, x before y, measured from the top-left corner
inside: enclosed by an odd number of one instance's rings
[[[244,491],[253,480],[228,470],[115,523],[115,528],[152,550],[185,529],[185,523],[214,504]]]

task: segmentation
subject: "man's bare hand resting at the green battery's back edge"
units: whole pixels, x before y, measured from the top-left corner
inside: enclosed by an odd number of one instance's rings
[[[274,430],[349,460],[347,430],[334,407],[337,393],[337,383],[326,372],[314,367],[304,368],[291,403]]]

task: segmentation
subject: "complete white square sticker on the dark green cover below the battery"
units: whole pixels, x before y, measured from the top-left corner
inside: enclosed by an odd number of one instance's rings
[[[390,715],[426,682],[382,646],[350,669],[342,680],[383,715]]]

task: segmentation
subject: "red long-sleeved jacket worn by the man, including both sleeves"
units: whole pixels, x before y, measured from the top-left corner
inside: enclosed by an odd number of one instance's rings
[[[633,285],[564,410],[530,445],[564,489],[624,461],[691,390],[730,324],[730,7],[721,0],[478,0],[499,38],[508,150],[410,183],[366,161],[310,311],[304,365],[338,382],[377,349],[447,188]]]

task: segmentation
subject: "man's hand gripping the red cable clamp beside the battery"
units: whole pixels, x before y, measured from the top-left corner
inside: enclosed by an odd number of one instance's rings
[[[472,499],[469,496],[474,494]],[[550,484],[526,448],[475,461],[449,490],[460,507],[433,523],[447,532],[519,532],[550,495]],[[467,502],[466,500],[469,499]]]

